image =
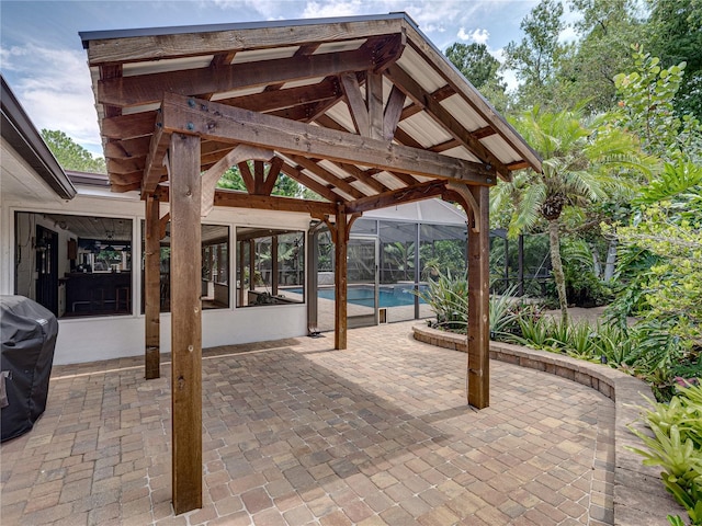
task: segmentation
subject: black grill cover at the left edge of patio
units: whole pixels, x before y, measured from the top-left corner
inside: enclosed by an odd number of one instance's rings
[[[0,442],[30,431],[44,412],[57,334],[50,310],[23,296],[0,296]]]

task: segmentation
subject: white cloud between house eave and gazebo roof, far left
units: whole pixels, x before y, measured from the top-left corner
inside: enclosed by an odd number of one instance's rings
[[[83,53],[35,44],[2,50],[2,67],[37,129],[59,129],[91,152],[102,155],[90,70]]]

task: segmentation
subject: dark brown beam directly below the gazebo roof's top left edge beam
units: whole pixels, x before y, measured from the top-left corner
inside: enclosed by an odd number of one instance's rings
[[[234,64],[222,68],[200,68],[159,73],[120,77],[98,81],[98,102],[120,107],[154,104],[165,92],[200,95],[233,91],[238,88],[313,79],[372,68],[372,49],[326,53],[279,58],[259,62]]]

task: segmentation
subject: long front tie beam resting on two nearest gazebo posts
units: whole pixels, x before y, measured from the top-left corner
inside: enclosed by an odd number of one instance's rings
[[[215,140],[226,138],[283,153],[429,178],[477,184],[494,184],[496,180],[495,169],[483,163],[171,93],[163,95],[162,115],[163,127],[169,132],[197,134]]]

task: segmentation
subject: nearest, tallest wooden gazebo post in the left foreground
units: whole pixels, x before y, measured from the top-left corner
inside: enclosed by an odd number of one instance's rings
[[[176,514],[202,507],[200,137],[170,141],[171,416]]]

